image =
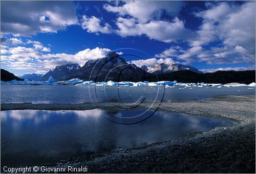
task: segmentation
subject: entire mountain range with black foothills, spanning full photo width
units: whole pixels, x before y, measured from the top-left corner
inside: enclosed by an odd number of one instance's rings
[[[217,71],[203,73],[195,67],[171,63],[161,63],[152,67],[138,67],[127,63],[117,53],[111,52],[103,58],[87,61],[82,67],[79,64],[66,64],[56,66],[44,76],[42,74],[25,74],[22,79],[15,77],[13,73],[1,69],[1,80],[29,79],[35,81],[47,81],[52,77],[55,81],[79,78],[84,81],[178,81],[183,83],[252,83],[255,81],[255,70],[252,71]],[[156,78],[156,74],[158,75]]]

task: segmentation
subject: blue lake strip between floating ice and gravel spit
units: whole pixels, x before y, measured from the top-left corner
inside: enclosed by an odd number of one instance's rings
[[[90,89],[89,89],[90,87]],[[184,87],[173,86],[33,86],[1,85],[1,103],[136,102],[207,100],[215,95],[255,95],[255,88],[242,87]]]

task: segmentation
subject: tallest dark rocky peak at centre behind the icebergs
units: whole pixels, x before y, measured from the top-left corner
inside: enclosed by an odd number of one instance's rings
[[[106,57],[97,60],[89,60],[75,73],[70,73],[65,80],[79,78],[82,80],[103,81],[144,81],[144,76],[151,73],[144,71],[134,64],[128,64],[115,52],[110,52]]]

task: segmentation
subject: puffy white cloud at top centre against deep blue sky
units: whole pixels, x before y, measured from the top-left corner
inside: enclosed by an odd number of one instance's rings
[[[187,29],[177,15],[184,6],[183,2],[131,1],[121,6],[104,5],[106,11],[116,13],[118,29],[116,33],[122,37],[146,36],[150,39],[172,42],[191,39],[194,32]],[[163,20],[162,14],[173,16]]]

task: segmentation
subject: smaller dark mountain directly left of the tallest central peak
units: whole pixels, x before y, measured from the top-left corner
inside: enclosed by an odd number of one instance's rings
[[[44,76],[40,78],[40,81],[47,81],[51,76],[55,81],[70,80],[71,74],[75,74],[81,66],[75,64],[65,64],[56,66],[54,69],[50,69]]]

